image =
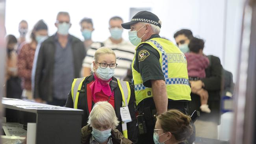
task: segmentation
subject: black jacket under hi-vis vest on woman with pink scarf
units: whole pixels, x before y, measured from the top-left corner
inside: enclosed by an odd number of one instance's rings
[[[113,80],[117,81],[115,77],[112,77]],[[79,97],[78,97],[78,104],[77,108],[83,110],[83,116],[82,116],[82,127],[87,125],[87,120],[89,117],[89,110],[88,110],[88,105],[87,105],[87,84],[91,83],[94,81],[94,76],[88,76],[84,79],[81,90],[85,90],[85,92],[80,92]],[[128,139],[131,140],[132,142],[135,142],[137,140],[137,128],[136,128],[136,123],[137,120],[135,118],[135,109],[134,109],[134,102],[135,102],[135,94],[134,94],[134,88],[132,85],[130,85],[131,88],[131,96],[130,96],[130,101],[128,103],[128,108],[130,111],[130,115],[132,118],[132,122],[127,123],[127,131],[128,131]],[[117,129],[122,132],[122,124],[121,124],[121,115],[120,115],[120,107],[122,107],[122,94],[119,86],[117,86],[114,89],[115,93],[115,114],[117,115],[117,118],[119,120],[119,126],[117,126]],[[93,103],[92,103],[93,105]],[[66,107],[73,108],[73,99],[71,95],[71,91],[69,92],[69,96],[67,98],[66,102]]]

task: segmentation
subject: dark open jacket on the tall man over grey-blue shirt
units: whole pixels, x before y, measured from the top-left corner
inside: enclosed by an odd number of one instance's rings
[[[53,97],[53,75],[54,75],[54,57],[56,45],[54,36],[50,36],[42,42],[39,49],[37,64],[35,68],[35,85],[33,90],[34,98],[41,98],[45,101],[52,101]],[[71,37],[73,61],[74,61],[74,78],[80,77],[82,62],[85,57],[85,48],[80,39]]]

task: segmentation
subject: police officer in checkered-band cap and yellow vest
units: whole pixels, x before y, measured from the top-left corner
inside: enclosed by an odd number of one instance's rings
[[[149,11],[140,11],[122,27],[131,29],[129,39],[136,46],[132,75],[140,114],[137,117],[139,143],[154,144],[158,114],[167,109],[179,109],[187,114],[191,89],[186,57],[172,42],[160,37],[161,21]]]

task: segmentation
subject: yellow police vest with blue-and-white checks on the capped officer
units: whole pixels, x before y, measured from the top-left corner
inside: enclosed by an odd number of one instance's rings
[[[159,62],[165,77],[168,99],[191,100],[185,55],[172,42],[162,38],[153,38],[146,42],[141,42],[135,50],[137,51],[137,48],[144,43],[150,44],[160,54]],[[143,85],[141,74],[134,69],[135,56],[132,62],[132,76],[134,79],[136,104],[138,105],[139,102],[145,98],[153,97],[153,95],[152,89]],[[143,56],[143,54],[138,56]]]

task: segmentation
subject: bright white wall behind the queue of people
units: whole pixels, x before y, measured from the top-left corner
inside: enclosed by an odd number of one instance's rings
[[[68,11],[72,23],[71,34],[82,39],[79,21],[83,17],[90,17],[93,18],[95,27],[93,40],[104,41],[109,37],[110,17],[118,15],[127,22],[130,7],[151,7],[152,12],[162,21],[160,33],[162,37],[174,41],[175,31],[189,28],[195,36],[206,41],[204,49],[206,54],[218,56],[224,68],[236,73],[237,61],[231,62],[230,58],[237,57],[237,40],[241,25],[239,9],[242,5],[240,0],[227,0],[227,4],[227,29],[225,29],[225,0],[7,0],[6,31],[7,34],[18,36],[20,20],[27,20],[29,29],[32,30],[39,19],[44,19],[52,35],[56,32],[54,22],[57,13]],[[128,40],[128,30],[124,31],[123,37]],[[226,41],[223,41],[224,38]],[[225,51],[224,47],[227,48]]]

